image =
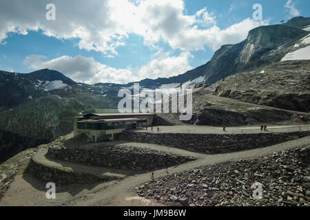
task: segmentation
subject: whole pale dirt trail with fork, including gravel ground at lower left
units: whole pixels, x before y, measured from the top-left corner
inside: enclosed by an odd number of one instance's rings
[[[197,158],[195,161],[169,168],[169,174],[173,175],[174,173],[183,170],[192,170],[200,166],[234,162],[238,159],[251,159],[259,155],[269,155],[274,152],[309,145],[310,136],[266,148],[256,148],[248,151],[220,155],[205,155],[168,146],[158,146],[156,144],[126,144],[137,147],[156,148],[160,151],[178,155],[190,155]],[[39,155],[44,156],[43,153]],[[63,165],[65,165],[65,163],[63,163]],[[70,163],[70,166],[74,166],[74,164]],[[78,164],[77,166],[81,168],[83,165]],[[154,171],[155,179],[164,177],[165,175],[167,175],[165,169]],[[161,206],[160,203],[143,199],[136,194],[134,188],[148,181],[150,181],[150,173],[140,175],[132,174],[122,181],[59,186],[56,188],[56,199],[48,200],[45,197],[45,192],[47,190],[45,188],[45,182],[39,181],[30,175],[19,173],[6,192],[6,195],[1,199],[0,206]]]

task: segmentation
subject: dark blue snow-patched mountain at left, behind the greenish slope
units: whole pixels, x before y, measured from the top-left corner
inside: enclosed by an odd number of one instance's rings
[[[120,87],[120,86],[119,86]],[[112,85],[86,85],[78,84],[60,72],[50,69],[41,69],[30,74],[17,74],[0,72],[0,112],[18,107],[20,104],[28,104],[37,98],[50,98],[59,100],[76,100],[81,104],[92,105],[96,100],[101,106],[116,106],[116,89]],[[112,92],[110,92],[112,91]],[[117,97],[117,93],[116,93]],[[90,99],[90,100],[88,100]]]

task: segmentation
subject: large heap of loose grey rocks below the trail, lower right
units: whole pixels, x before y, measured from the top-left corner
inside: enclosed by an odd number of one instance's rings
[[[172,206],[310,206],[310,146],[156,179],[141,197]],[[254,183],[262,199],[254,199]]]

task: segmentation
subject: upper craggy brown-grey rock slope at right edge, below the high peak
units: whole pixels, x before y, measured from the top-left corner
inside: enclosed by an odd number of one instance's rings
[[[310,111],[310,61],[273,63],[213,85],[221,97],[294,111]]]

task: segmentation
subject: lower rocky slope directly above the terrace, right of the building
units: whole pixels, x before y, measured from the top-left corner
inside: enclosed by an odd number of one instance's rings
[[[309,113],[266,107],[210,94],[194,94],[192,120],[182,122],[179,117],[180,113],[160,113],[154,123],[156,125],[245,126],[249,124],[305,124],[310,121]]]

